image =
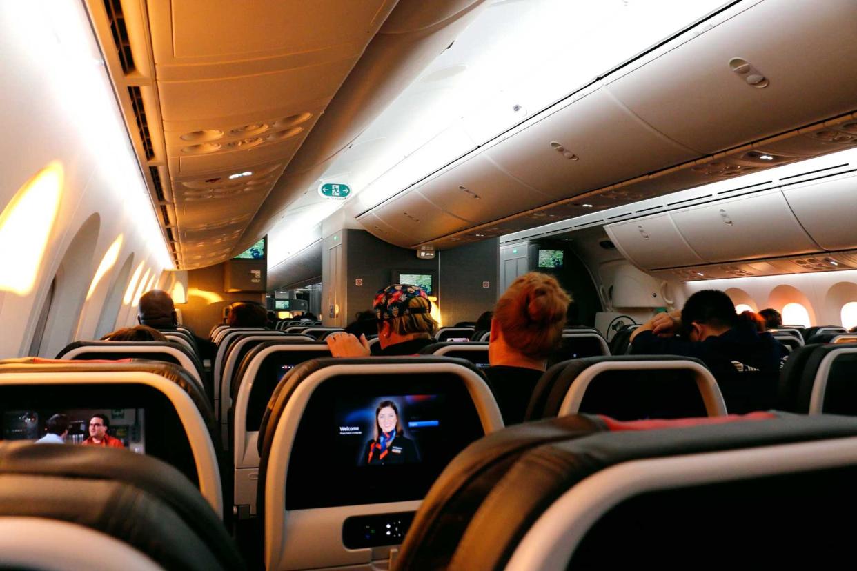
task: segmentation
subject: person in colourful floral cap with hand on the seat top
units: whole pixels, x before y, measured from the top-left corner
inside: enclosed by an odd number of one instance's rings
[[[375,302],[380,355],[415,355],[434,343],[437,322],[429,314],[431,301],[423,288],[396,283],[378,291]],[[327,336],[327,347],[334,357],[368,357],[369,342],[365,335],[358,339],[349,333]]]

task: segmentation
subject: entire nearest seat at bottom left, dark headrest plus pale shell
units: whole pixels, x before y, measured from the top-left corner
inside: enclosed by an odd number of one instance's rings
[[[0,534],[3,568],[244,568],[188,479],[128,450],[0,443],[0,530],[13,521]],[[24,537],[9,542],[9,531]],[[21,545],[33,535],[38,550]],[[63,549],[68,538],[75,549]]]

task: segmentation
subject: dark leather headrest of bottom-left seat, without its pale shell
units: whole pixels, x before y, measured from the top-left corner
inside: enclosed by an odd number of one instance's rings
[[[0,496],[14,492],[22,504],[9,510],[13,503],[0,503],[3,515],[82,523],[135,545],[167,568],[243,568],[200,492],[152,457],[124,449],[0,443],[2,480],[8,485],[0,485]]]

